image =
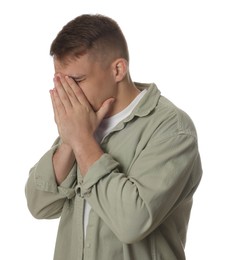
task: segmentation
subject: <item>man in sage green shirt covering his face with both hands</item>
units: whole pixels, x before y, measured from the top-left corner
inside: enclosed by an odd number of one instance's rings
[[[196,130],[134,83],[115,21],[82,15],[50,50],[59,138],[30,170],[29,210],[61,217],[55,260],[183,260],[202,169]]]

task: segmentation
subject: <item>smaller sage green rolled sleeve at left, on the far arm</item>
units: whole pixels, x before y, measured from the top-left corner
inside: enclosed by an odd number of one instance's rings
[[[29,172],[25,194],[28,208],[35,218],[59,217],[65,199],[75,195],[76,165],[60,186],[56,183],[52,157],[58,145],[59,138]]]

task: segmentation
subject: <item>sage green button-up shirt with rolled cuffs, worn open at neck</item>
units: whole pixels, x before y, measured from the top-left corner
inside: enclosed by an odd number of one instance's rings
[[[73,166],[58,186],[43,155],[26,184],[29,210],[60,219],[54,260],[183,260],[193,194],[202,169],[189,116],[154,84],[106,136],[102,157],[81,177]],[[84,201],[91,205],[83,238]],[[40,250],[40,248],[39,248]]]

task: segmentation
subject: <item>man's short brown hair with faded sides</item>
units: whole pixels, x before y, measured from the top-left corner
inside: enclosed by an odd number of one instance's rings
[[[59,60],[76,58],[88,51],[104,59],[112,55],[129,61],[127,42],[119,25],[100,14],[76,17],[62,28],[50,47],[50,55]]]

